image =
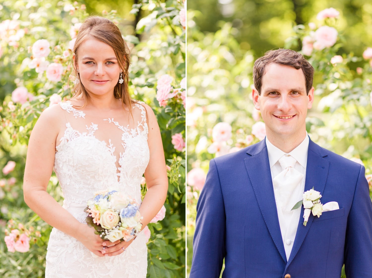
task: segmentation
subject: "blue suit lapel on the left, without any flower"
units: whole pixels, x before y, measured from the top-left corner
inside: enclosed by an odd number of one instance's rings
[[[267,229],[278,249],[283,260],[286,262],[286,255],[280,232],[278,212],[276,210],[273,183],[271,178],[269,157],[265,141],[254,145],[247,151],[250,157],[244,159],[251,185]]]

